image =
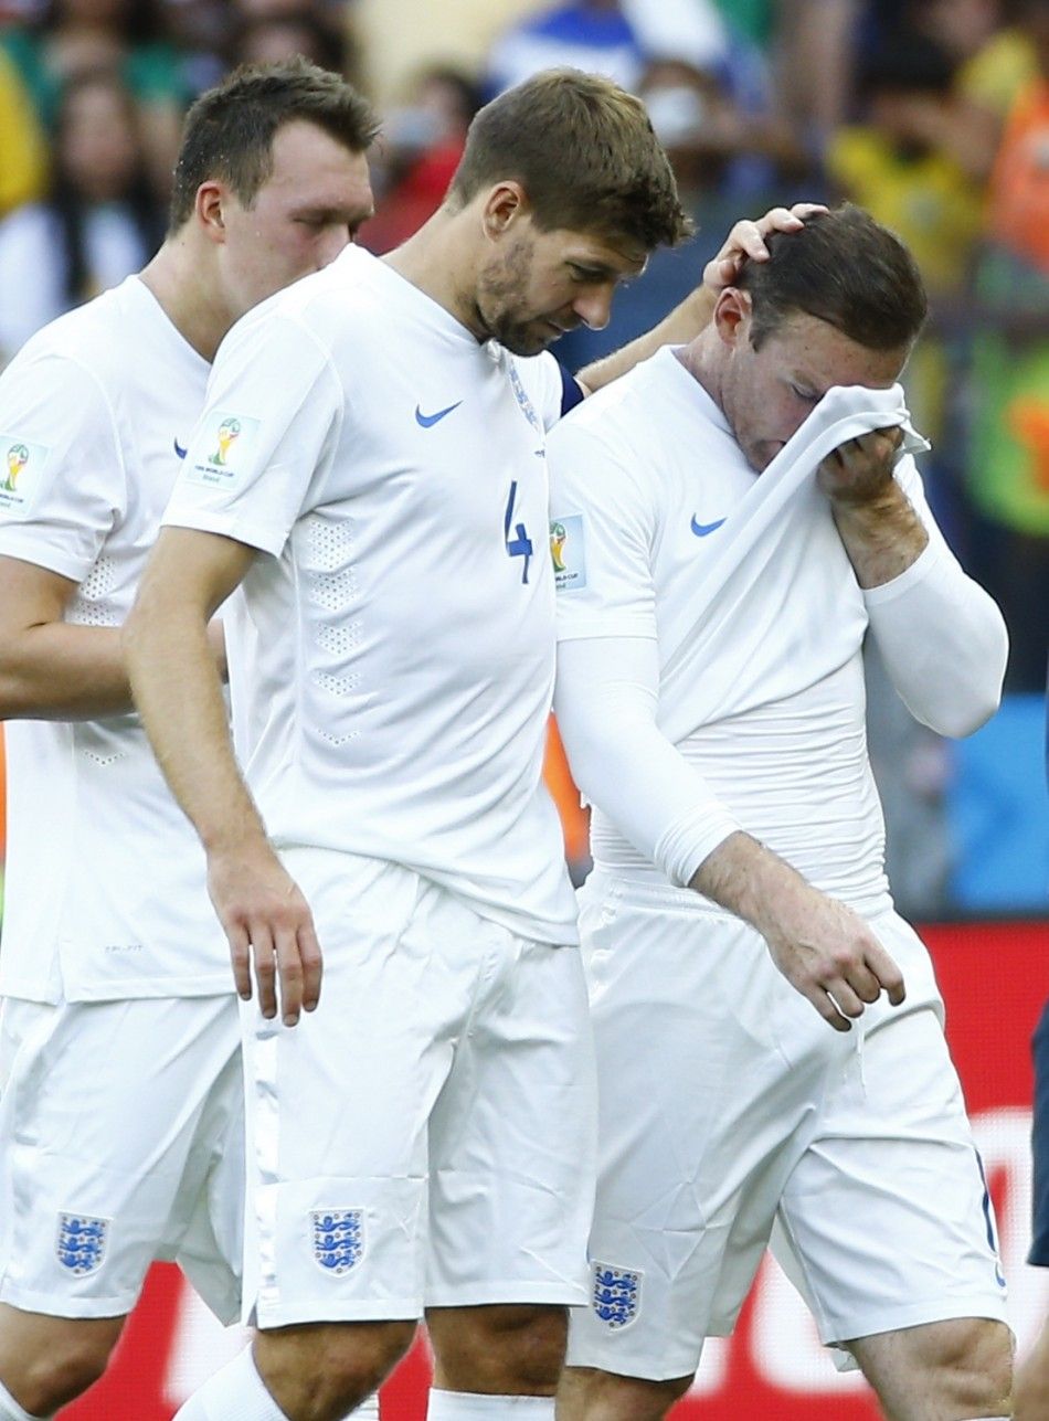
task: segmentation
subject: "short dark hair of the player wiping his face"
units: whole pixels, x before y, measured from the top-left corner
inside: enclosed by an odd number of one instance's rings
[[[766,237],[768,261],[746,261],[736,286],[752,301],[755,350],[795,311],[873,351],[910,347],[928,314],[918,264],[863,207],[816,212],[796,232]]]

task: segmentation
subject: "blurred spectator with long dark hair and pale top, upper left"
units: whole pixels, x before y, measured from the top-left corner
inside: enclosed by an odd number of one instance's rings
[[[78,75],[58,111],[50,198],[0,222],[0,362],[136,271],[162,236],[131,95],[115,74]]]

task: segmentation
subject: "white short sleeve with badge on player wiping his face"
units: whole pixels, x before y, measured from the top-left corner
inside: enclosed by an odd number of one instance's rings
[[[613,446],[587,414],[547,442],[557,638],[655,637],[651,490],[630,443]]]

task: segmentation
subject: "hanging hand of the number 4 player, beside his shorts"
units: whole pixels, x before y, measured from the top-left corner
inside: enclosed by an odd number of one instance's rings
[[[277,980],[284,1026],[320,1000],[321,951],[308,904],[263,840],[212,851],[208,891],[229,939],[233,979],[252,999],[252,969],[263,1016],[277,1015]]]

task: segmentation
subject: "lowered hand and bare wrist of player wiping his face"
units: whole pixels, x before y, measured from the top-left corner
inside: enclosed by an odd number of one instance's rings
[[[863,918],[749,834],[729,834],[689,888],[756,928],[787,982],[836,1032],[850,1030],[850,1017],[881,992],[893,1006],[903,1002],[903,973]]]

